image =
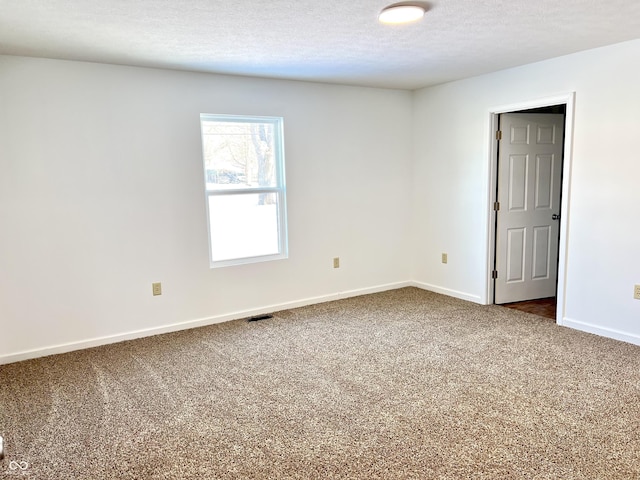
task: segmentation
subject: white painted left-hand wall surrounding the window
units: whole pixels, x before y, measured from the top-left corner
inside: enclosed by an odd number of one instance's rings
[[[406,282],[411,102],[0,57],[0,363]],[[285,118],[289,259],[209,268],[201,112]]]

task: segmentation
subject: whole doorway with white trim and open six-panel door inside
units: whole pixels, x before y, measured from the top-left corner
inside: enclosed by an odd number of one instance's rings
[[[487,303],[524,311],[544,305],[545,316],[553,311],[558,324],[564,316],[566,289],[573,100],[568,94],[491,111]],[[494,131],[502,132],[502,140],[498,134],[493,138]],[[549,151],[534,146],[522,152],[507,145],[505,137],[509,144],[555,147]],[[529,223],[519,224],[526,206],[536,207],[530,210],[537,213]],[[514,215],[508,219],[510,213]]]

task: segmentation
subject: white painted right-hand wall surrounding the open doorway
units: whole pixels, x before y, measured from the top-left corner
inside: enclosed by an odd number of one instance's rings
[[[487,301],[489,112],[575,92],[562,324],[640,344],[638,85],[640,40],[416,92],[413,279]]]

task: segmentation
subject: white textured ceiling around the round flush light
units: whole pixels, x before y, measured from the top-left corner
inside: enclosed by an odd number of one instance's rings
[[[640,38],[637,0],[0,0],[0,54],[415,89]],[[640,61],[640,59],[639,59]]]

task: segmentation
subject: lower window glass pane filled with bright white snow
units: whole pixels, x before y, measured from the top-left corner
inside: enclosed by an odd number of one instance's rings
[[[211,260],[275,255],[278,194],[209,195]]]

